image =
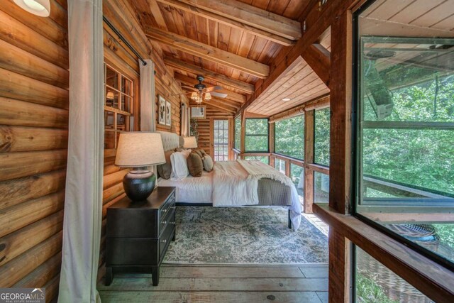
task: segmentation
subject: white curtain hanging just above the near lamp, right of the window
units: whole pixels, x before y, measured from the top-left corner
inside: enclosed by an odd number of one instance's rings
[[[140,66],[140,131],[156,131],[155,63]]]

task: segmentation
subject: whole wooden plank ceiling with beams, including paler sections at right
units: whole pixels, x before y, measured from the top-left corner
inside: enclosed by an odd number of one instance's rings
[[[175,79],[193,86],[196,75],[203,75],[207,86],[223,87],[226,99],[208,101],[216,110],[232,115],[247,108],[273,116],[329,94],[331,30],[311,31],[319,1],[128,1]],[[411,28],[415,35],[452,37],[453,5],[454,0],[377,0],[362,17],[362,28],[369,35],[395,36]],[[309,33],[302,32],[304,20],[316,33],[308,38],[314,44],[305,46],[299,39]],[[282,56],[300,49],[296,60],[292,54],[277,67]]]

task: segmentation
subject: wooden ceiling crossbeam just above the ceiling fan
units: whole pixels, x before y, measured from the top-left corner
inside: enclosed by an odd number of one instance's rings
[[[205,70],[197,65],[192,65],[189,62],[184,62],[182,60],[178,60],[171,57],[164,58],[165,65],[170,67],[174,67],[177,70],[183,70],[185,72],[192,72],[196,75],[203,75],[206,79],[211,79],[217,82],[221,82],[223,84],[228,85],[229,87],[233,87],[234,89],[239,89],[242,92],[247,94],[253,94],[254,92],[254,85],[248,84],[246,82],[242,82],[236,79],[231,79],[226,75],[218,74],[217,72],[213,72],[211,70]]]

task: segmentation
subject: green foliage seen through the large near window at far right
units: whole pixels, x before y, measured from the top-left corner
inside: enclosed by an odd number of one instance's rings
[[[454,76],[436,79],[393,92],[394,109],[385,121],[454,121]],[[377,121],[367,98],[365,120]],[[448,194],[454,194],[453,129],[365,129],[363,171]]]

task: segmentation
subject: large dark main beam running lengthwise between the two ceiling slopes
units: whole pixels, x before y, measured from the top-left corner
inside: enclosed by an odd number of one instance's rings
[[[334,23],[338,16],[354,6],[360,0],[331,0],[319,9],[318,1],[305,16],[306,32],[292,47],[282,48],[270,64],[270,76],[260,79],[255,83],[255,92],[248,101],[241,106],[236,113],[240,114],[248,109],[260,94],[267,92],[272,84],[284,75],[285,72],[292,70],[292,64],[301,57],[301,54],[309,48],[326,29]]]

